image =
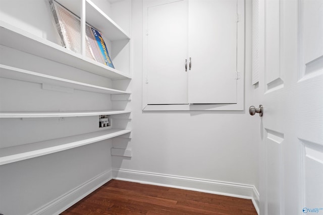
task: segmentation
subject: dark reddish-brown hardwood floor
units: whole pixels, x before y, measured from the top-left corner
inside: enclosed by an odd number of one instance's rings
[[[61,215],[254,214],[249,199],[111,180]]]

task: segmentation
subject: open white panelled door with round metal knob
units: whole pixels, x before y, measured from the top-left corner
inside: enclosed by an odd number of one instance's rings
[[[322,9],[259,1],[261,215],[323,214]]]

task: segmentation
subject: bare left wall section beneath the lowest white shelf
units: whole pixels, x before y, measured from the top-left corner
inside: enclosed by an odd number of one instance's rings
[[[55,154],[0,166],[0,212],[58,214],[109,179],[111,144],[101,141]],[[55,205],[57,204],[57,205]]]

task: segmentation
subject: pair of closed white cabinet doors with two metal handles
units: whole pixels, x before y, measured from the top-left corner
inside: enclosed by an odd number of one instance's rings
[[[237,103],[237,1],[147,7],[148,104]]]

